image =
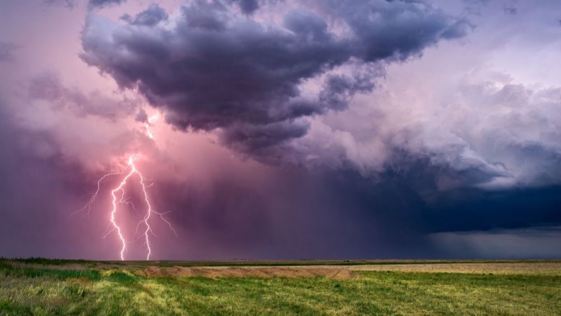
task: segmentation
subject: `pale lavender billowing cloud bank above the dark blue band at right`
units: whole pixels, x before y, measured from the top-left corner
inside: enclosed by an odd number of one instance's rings
[[[560,89],[495,76],[466,76],[436,99],[371,94],[344,114],[312,120],[309,133],[292,148],[307,164],[348,166],[369,176],[410,173],[423,165],[436,191],[560,183]],[[419,191],[429,187],[424,182]]]

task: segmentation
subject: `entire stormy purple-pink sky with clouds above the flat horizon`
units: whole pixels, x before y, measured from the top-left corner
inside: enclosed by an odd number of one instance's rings
[[[561,258],[560,54],[557,0],[2,1],[0,256],[120,259],[134,156],[126,260]]]

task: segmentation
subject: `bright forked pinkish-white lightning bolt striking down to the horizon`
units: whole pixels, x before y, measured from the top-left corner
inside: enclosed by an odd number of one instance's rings
[[[112,196],[112,205],[113,205],[113,209],[111,210],[111,216],[109,217],[109,224],[108,224],[108,228],[107,231],[105,231],[105,233],[103,234],[102,238],[105,238],[107,236],[109,236],[109,234],[111,234],[112,232],[117,232],[117,236],[119,237],[119,241],[121,242],[121,251],[119,252],[119,255],[121,256],[121,260],[125,260],[125,251],[127,250],[127,241],[125,239],[125,237],[123,236],[123,232],[121,227],[119,227],[119,225],[116,222],[116,214],[118,211],[118,205],[119,204],[126,204],[126,205],[131,205],[132,208],[136,211],[136,207],[134,204],[132,204],[131,201],[129,201],[130,197],[125,198],[125,186],[127,184],[127,181],[133,177],[134,175],[137,175],[137,177],[140,179],[140,185],[142,187],[142,193],[144,196],[144,203],[146,204],[146,214],[144,215],[144,218],[142,218],[142,220],[136,225],[136,231],[135,231],[135,235],[133,236],[133,242],[135,241],[135,237],[138,234],[138,230],[139,227],[141,227],[142,225],[144,225],[146,227],[146,229],[144,230],[144,233],[140,235],[140,237],[144,237],[144,245],[146,246],[146,251],[148,252],[148,254],[146,255],[146,260],[150,260],[150,255],[152,254],[152,249],[151,249],[151,242],[150,242],[150,235],[157,237],[157,235],[154,233],[154,231],[152,230],[151,226],[150,226],[150,218],[152,217],[159,217],[160,219],[163,220],[163,222],[165,222],[168,227],[171,229],[171,231],[176,235],[177,237],[177,232],[175,231],[175,229],[173,229],[173,226],[171,223],[168,222],[168,220],[166,220],[164,218],[165,214],[170,213],[165,212],[165,213],[159,213],[157,211],[155,211],[152,208],[152,205],[150,204],[150,199],[148,197],[148,191],[146,191],[147,188],[151,187],[152,184],[148,184],[146,185],[146,179],[144,178],[144,176],[142,175],[142,173],[136,168],[135,165],[135,160],[137,160],[139,157],[139,154],[136,155],[131,155],[130,157],[128,157],[128,163],[127,166],[121,170],[121,172],[117,172],[117,173],[108,173],[103,175],[103,177],[101,177],[98,180],[97,183],[97,189],[95,192],[91,193],[91,198],[88,201],[88,203],[86,203],[86,205],[84,207],[82,207],[81,209],[73,212],[72,214],[70,214],[70,216],[72,217],[73,214],[75,213],[79,213],[82,211],[87,211],[88,216],[91,210],[91,206],[93,205],[93,203],[95,202],[95,200],[99,197],[99,192],[100,192],[100,188],[101,188],[101,183],[105,178],[108,177],[112,177],[113,175],[123,175],[127,172],[128,173],[125,175],[125,177],[121,180],[121,183],[119,183],[119,186],[112,189],[111,191],[111,196]],[[118,192],[121,191],[121,196],[118,197]]]

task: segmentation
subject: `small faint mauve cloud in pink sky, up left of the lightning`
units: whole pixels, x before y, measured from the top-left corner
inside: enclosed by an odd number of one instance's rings
[[[67,88],[53,74],[32,78],[28,95],[31,100],[48,101],[53,109],[70,109],[77,116],[94,115],[109,120],[132,114],[138,107],[135,100],[126,97],[115,101],[99,91],[85,94],[77,88]]]

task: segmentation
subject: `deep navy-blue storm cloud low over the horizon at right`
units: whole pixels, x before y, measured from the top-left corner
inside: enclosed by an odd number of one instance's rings
[[[488,190],[473,184],[488,182],[496,176],[489,170],[458,170],[406,154],[394,158],[397,161],[379,175],[379,183],[371,189],[378,191],[393,183],[394,191],[408,196],[409,207],[418,212],[419,218],[415,220],[419,233],[487,231],[561,223],[561,213],[557,211],[561,207],[559,185]],[[558,159],[557,168],[560,166]],[[558,170],[553,169],[553,172]],[[385,196],[394,200],[395,194],[387,192]]]

